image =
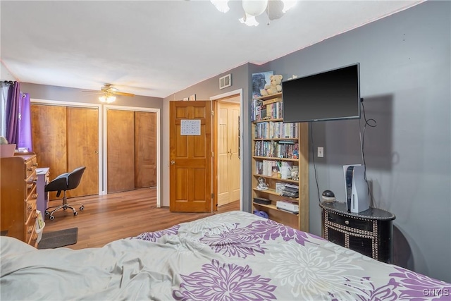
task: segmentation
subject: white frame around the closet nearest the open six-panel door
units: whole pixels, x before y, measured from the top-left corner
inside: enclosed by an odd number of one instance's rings
[[[155,108],[142,108],[139,106],[112,106],[112,105],[104,105],[104,116],[105,118],[103,119],[104,123],[103,123],[103,146],[104,146],[104,161],[103,161],[103,173],[104,173],[104,193],[108,193],[108,189],[107,189],[107,183],[108,183],[108,173],[107,173],[107,166],[106,166],[106,162],[107,162],[107,152],[106,152],[106,111],[108,110],[121,110],[121,111],[138,111],[138,112],[153,112],[156,113],[156,207],[160,208],[161,207],[161,180],[160,180],[160,173],[161,173],[161,166],[160,166],[160,153],[161,153],[161,149],[160,149],[160,109],[155,109]]]

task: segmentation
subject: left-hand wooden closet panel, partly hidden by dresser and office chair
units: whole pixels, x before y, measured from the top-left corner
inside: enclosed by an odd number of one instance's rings
[[[50,180],[67,172],[66,106],[32,104],[32,152],[36,153],[38,167],[50,168]],[[61,198],[61,197],[59,197]],[[50,199],[57,199],[56,192]]]

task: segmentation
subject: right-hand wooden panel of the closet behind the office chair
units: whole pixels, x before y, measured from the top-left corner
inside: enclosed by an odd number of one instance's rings
[[[99,110],[67,108],[68,171],[86,166],[78,188],[68,197],[99,194]]]

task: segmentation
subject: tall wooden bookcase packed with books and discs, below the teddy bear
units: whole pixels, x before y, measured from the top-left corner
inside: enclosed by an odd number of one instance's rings
[[[253,206],[274,221],[308,232],[308,125],[283,123],[282,104],[282,93],[252,99],[252,197],[271,200],[271,204],[253,202]],[[296,168],[298,177],[293,179],[291,171]],[[266,181],[267,190],[257,189],[260,178]],[[297,188],[298,197],[281,193],[288,187]],[[299,214],[278,209],[276,203],[283,199],[297,201]]]

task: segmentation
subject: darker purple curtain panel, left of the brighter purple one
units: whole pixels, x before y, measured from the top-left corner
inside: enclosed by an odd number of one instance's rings
[[[19,106],[20,106],[20,82],[14,82],[8,90],[6,100],[6,140],[11,144],[19,142]]]

